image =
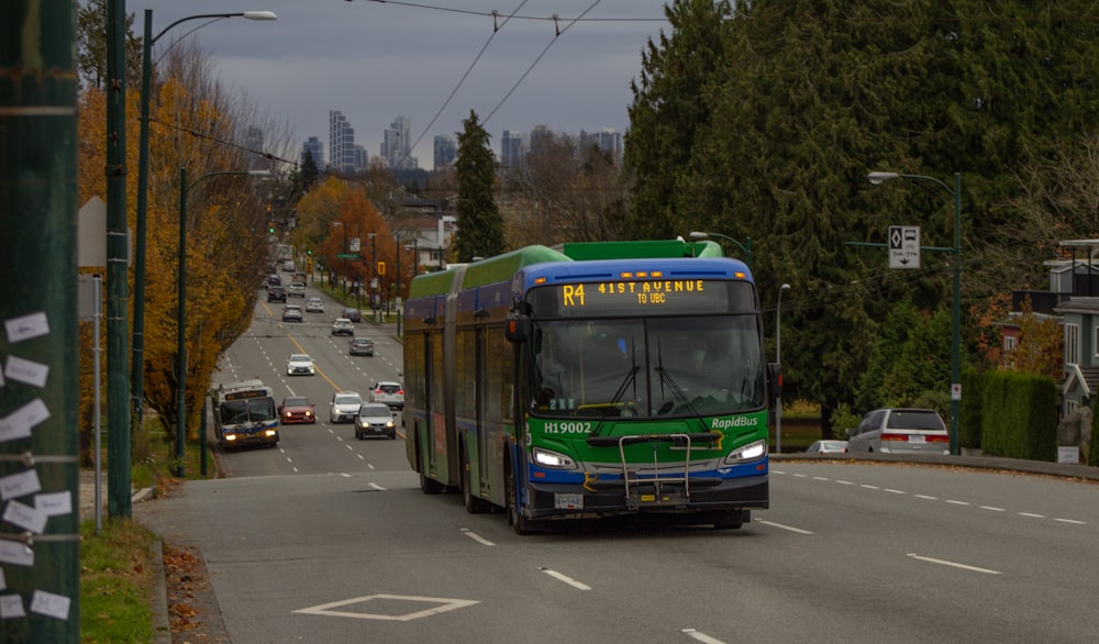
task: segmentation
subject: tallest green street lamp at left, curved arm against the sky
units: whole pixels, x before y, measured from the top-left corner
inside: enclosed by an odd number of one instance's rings
[[[145,229],[148,193],[148,103],[149,86],[153,76],[153,44],[160,40],[168,30],[189,20],[218,20],[227,18],[244,18],[246,20],[278,20],[274,11],[244,11],[240,13],[203,13],[189,15],[160,30],[153,35],[153,10],[145,10],[145,36],[142,38],[141,62],[141,134],[137,143],[137,212],[134,230],[134,331],[131,355],[130,396],[133,400],[134,415],[132,423],[141,426],[143,398],[145,396]],[[202,26],[202,25],[200,25]]]

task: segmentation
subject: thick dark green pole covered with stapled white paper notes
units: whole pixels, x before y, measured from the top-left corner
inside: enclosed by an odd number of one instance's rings
[[[0,418],[7,419],[0,477],[36,477],[41,488],[8,479],[13,485],[4,508],[12,514],[5,515],[4,543],[13,546],[9,553],[33,551],[33,558],[5,560],[0,568],[0,595],[8,607],[18,601],[25,613],[0,620],[3,642],[80,641],[77,455],[79,429],[88,428],[79,413],[75,368],[81,348],[75,42],[75,2],[0,3],[0,318],[5,322],[0,356],[9,369],[15,358],[26,360],[0,387]],[[24,489],[16,492],[16,487]],[[16,501],[34,509],[35,493],[64,495],[73,508],[49,517],[42,533],[32,536],[13,518]],[[64,598],[64,607],[49,602],[58,614],[31,610],[40,591]]]

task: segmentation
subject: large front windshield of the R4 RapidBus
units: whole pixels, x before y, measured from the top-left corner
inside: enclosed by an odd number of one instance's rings
[[[541,321],[531,411],[545,417],[697,417],[764,406],[755,315]]]

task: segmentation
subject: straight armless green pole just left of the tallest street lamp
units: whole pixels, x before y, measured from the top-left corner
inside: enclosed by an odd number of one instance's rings
[[[130,517],[130,248],[126,232],[126,7],[107,2],[107,463],[110,517]]]

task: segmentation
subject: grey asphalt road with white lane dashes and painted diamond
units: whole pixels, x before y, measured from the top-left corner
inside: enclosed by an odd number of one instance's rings
[[[782,459],[771,509],[740,531],[603,521],[518,536],[502,514],[422,495],[402,438],[324,422],[331,392],[396,377],[399,345],[376,333],[379,356],[349,359],[310,324],[242,338],[225,376],[315,397],[322,422],[141,509],[206,556],[235,644],[1095,641],[1091,482]],[[299,349],[322,375],[279,380]]]

